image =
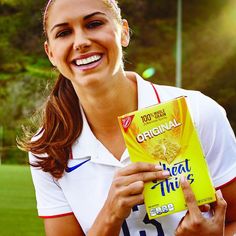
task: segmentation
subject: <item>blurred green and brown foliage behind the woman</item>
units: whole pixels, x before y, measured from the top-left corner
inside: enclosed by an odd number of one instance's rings
[[[126,69],[175,85],[176,0],[120,0],[133,31]],[[26,163],[16,148],[21,125],[42,105],[55,72],[43,51],[43,0],[0,0],[0,155]],[[236,1],[183,0],[183,87],[204,92],[236,130]],[[220,127],[219,127],[220,129]]]

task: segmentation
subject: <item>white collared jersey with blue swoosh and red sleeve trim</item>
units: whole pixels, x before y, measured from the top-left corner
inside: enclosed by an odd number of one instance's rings
[[[138,108],[186,96],[197,128],[214,186],[235,179],[236,142],[225,111],[216,102],[197,91],[169,86],[153,86],[136,75]],[[80,137],[72,146],[68,170],[58,181],[49,173],[31,167],[36,189],[37,208],[42,218],[74,214],[85,234],[103,207],[114,172],[128,164],[126,150],[118,161],[93,135],[85,116]],[[30,162],[36,158],[30,154]],[[124,221],[120,235],[173,236],[185,211],[148,220],[144,205],[135,206]]]

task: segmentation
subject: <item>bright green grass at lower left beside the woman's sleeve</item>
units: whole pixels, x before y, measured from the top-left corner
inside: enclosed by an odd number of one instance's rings
[[[0,166],[0,235],[45,235],[27,166]]]

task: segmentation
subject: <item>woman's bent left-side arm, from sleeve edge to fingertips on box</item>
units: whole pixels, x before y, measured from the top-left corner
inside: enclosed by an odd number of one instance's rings
[[[104,206],[86,232],[88,236],[117,236],[123,221],[133,206],[143,203],[144,183],[169,177],[162,167],[148,163],[134,163],[118,170],[114,176]],[[47,236],[84,236],[74,215],[44,220]]]

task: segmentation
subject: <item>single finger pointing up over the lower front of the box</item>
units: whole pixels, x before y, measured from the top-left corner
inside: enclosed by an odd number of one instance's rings
[[[181,176],[180,184],[184,193],[184,199],[189,209],[190,215],[192,214],[195,214],[197,216],[201,215],[201,211],[197,205],[197,201],[191,189],[191,186],[184,176]]]

